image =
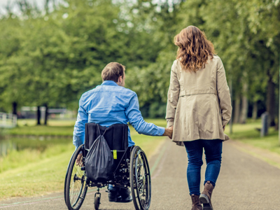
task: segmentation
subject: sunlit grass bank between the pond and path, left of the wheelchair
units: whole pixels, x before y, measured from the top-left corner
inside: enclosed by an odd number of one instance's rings
[[[0,174],[0,200],[62,191],[66,167],[73,147],[68,145],[65,149],[66,151],[60,153],[59,146],[52,147],[51,150],[57,153],[54,155],[45,153],[43,154],[45,157],[41,157],[36,152],[22,151],[20,156],[25,160],[38,159]]]

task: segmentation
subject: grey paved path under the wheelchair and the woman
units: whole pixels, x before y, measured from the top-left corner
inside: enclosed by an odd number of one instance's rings
[[[186,181],[187,158],[183,147],[166,141],[150,160],[151,209],[191,209]],[[202,181],[205,165],[202,167]],[[280,209],[280,169],[238,150],[230,141],[223,148],[221,174],[213,195],[215,210]],[[1,189],[0,189],[1,190]],[[93,210],[94,192],[87,193],[81,209]],[[18,204],[16,204],[18,202]],[[102,193],[100,209],[134,209],[133,203],[109,203]],[[0,209],[67,209],[63,193],[0,202]]]

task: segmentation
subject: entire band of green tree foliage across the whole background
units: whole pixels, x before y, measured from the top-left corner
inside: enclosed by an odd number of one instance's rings
[[[173,38],[188,25],[214,43],[235,96],[264,101],[268,79],[279,83],[279,1],[66,0],[43,11],[18,2],[21,15],[0,19],[2,111],[13,102],[76,109],[104,66],[120,62],[145,115],[165,116]]]

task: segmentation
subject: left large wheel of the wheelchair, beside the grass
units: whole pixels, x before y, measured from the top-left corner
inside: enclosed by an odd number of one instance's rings
[[[85,171],[81,170],[83,165],[76,165],[76,159],[82,152],[82,146],[79,146],[73,153],[66,172],[64,198],[69,210],[80,209],[87,194]]]

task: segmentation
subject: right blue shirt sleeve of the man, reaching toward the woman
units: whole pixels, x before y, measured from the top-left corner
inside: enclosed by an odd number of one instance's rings
[[[141,111],[139,110],[139,102],[137,94],[134,93],[130,102],[125,110],[125,114],[130,122],[130,124],[134,127],[134,129],[139,134],[145,134],[148,136],[162,136],[165,132],[164,127],[158,127],[153,123],[146,123],[141,115]]]

